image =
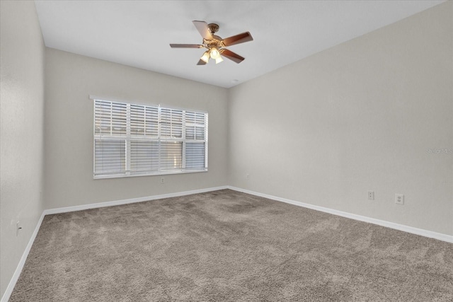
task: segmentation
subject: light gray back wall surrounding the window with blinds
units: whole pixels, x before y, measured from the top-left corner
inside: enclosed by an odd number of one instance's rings
[[[226,185],[227,91],[130,66],[46,49],[46,208]],[[209,171],[93,180],[93,100],[88,95],[205,110]]]

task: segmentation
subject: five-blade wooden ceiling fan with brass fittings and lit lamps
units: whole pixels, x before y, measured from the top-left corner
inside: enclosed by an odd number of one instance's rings
[[[172,48],[206,48],[207,51],[202,55],[197,65],[205,65],[209,62],[210,58],[215,60],[215,64],[223,61],[222,56],[236,63],[241,63],[244,57],[239,54],[227,50],[226,46],[236,45],[243,42],[253,40],[250,33],[240,33],[239,35],[233,35],[222,39],[218,35],[214,35],[219,30],[219,25],[210,23],[207,24],[205,21],[192,21],[195,28],[200,32],[203,37],[202,44],[171,44]]]

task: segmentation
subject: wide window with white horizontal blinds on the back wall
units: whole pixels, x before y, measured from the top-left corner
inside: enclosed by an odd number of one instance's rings
[[[94,178],[207,171],[207,113],[94,100]]]

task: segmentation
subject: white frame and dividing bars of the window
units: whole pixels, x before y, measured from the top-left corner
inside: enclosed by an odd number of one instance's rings
[[[207,172],[208,170],[208,112],[205,110],[196,110],[196,109],[188,109],[188,108],[178,108],[178,107],[173,107],[173,106],[168,106],[168,105],[154,105],[154,104],[144,104],[144,103],[137,103],[137,102],[131,102],[127,100],[117,100],[113,98],[102,98],[102,97],[97,97],[94,95],[89,95],[89,98],[93,101],[93,179],[105,179],[105,178],[127,178],[127,177],[139,177],[139,176],[152,176],[152,175],[169,175],[169,174],[183,174],[183,173],[200,173],[200,172]],[[96,121],[98,115],[96,115],[96,104],[97,102],[106,102],[110,103],[111,106],[113,107],[113,103],[120,103],[120,104],[125,104],[126,105],[126,134],[113,134],[113,123],[110,122],[110,134],[103,134],[101,127],[98,127],[99,132],[96,133]],[[133,120],[132,117],[132,107],[140,107],[143,106],[146,110],[146,108],[156,108],[157,109],[157,115],[156,115],[156,120],[153,121],[157,124],[157,136],[156,137],[146,137],[146,134],[144,134],[142,137],[139,135],[132,135],[132,126],[131,122]],[[170,135],[165,136],[162,134],[162,126],[164,125],[163,122],[163,115],[162,112],[181,112],[181,129],[180,129],[180,137],[172,137]],[[189,114],[188,114],[189,112]],[[111,113],[110,113],[111,114]],[[200,124],[195,122],[190,123],[186,121],[186,117],[188,115],[194,116],[194,119],[196,116],[202,115],[204,117],[204,123],[202,126]],[[144,116],[144,119],[146,120],[146,116]],[[98,121],[99,122],[99,121]],[[151,122],[152,123],[152,122]],[[193,128],[193,139],[187,139],[186,134],[187,134],[187,128],[188,127],[194,127]],[[204,139],[196,139],[197,138],[197,129],[200,127],[204,128]],[[173,131],[173,128],[170,126],[171,131]],[[144,129],[146,129],[146,126],[144,126]],[[135,130],[137,131],[137,129]],[[146,132],[146,130],[144,130]],[[199,130],[198,130],[199,131]],[[168,132],[167,132],[168,133]],[[200,132],[198,132],[200,133]],[[117,173],[102,173],[102,171],[96,171],[96,141],[124,141],[125,143],[125,163],[124,163],[124,170],[122,170],[122,167],[120,168],[120,172]],[[157,151],[157,156],[159,157],[158,161],[158,168],[157,170],[147,170],[143,172],[139,172],[139,170],[132,170],[132,144],[137,144],[137,141],[155,141],[157,142],[158,145],[158,151]],[[180,147],[180,168],[171,168],[171,170],[168,170],[168,168],[163,167],[164,159],[161,159],[161,153],[163,150],[166,150],[168,152],[169,149],[165,149],[163,144],[168,144],[171,142],[180,142],[181,147]],[[186,168],[186,146],[187,144],[204,144],[204,154],[201,153],[201,156],[204,155],[204,167],[203,168]],[[152,145],[152,144],[150,144]],[[168,148],[168,147],[167,147]],[[198,148],[200,149],[200,148]],[[201,149],[202,150],[202,149]],[[135,152],[138,152],[135,150]],[[152,158],[151,156],[149,158]],[[203,157],[201,157],[203,158]],[[196,158],[195,158],[196,159]],[[194,160],[194,158],[192,158]],[[119,166],[122,166],[122,163],[119,164]]]

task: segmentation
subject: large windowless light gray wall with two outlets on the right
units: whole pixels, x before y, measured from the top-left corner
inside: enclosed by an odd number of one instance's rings
[[[452,6],[231,88],[229,184],[453,235]]]

